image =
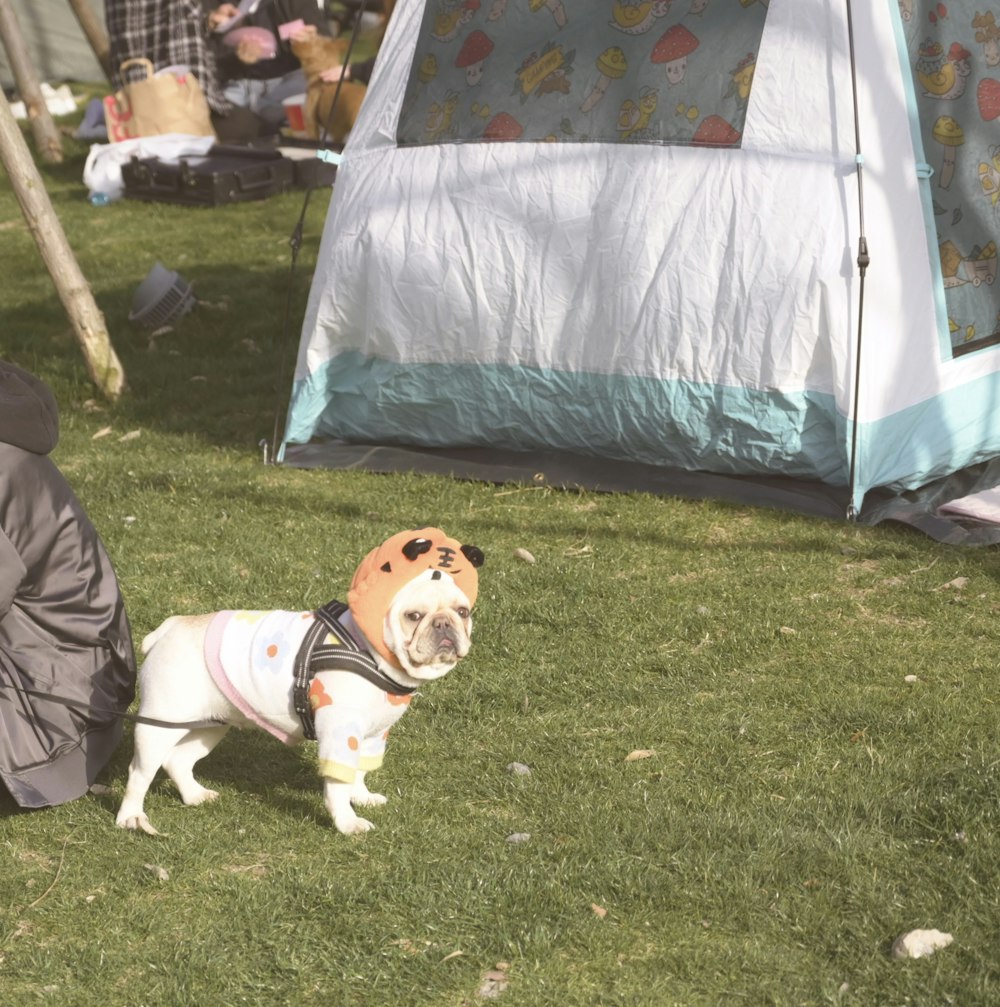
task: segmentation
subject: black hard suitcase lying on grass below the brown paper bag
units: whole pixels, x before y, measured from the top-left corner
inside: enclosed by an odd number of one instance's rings
[[[216,144],[176,161],[133,155],[122,165],[122,180],[129,199],[220,206],[287,192],[295,166],[277,150]]]

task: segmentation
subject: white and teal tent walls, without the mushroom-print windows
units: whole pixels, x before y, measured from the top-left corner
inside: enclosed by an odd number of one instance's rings
[[[687,6],[666,5],[651,45],[672,22],[702,31]],[[855,74],[846,3],[763,6],[737,146],[588,141],[579,116],[569,142],[401,146],[429,101],[412,69],[445,51],[425,4],[403,0],[338,171],[286,441],[544,447],[844,485],[856,406],[856,502],[1000,453],[1000,351],[953,355],[897,3],[853,4]],[[465,30],[495,32],[491,9]],[[520,0],[503,16],[539,23]],[[606,35],[606,11],[570,17]],[[577,56],[581,89],[592,58]],[[667,107],[679,94],[660,83]],[[430,122],[443,106],[426,108]]]

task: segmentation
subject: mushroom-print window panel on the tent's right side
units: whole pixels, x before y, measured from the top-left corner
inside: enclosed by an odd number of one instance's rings
[[[951,345],[1000,342],[1000,3],[899,0]]]

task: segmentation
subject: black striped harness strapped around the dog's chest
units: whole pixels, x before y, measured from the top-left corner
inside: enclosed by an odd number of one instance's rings
[[[313,612],[315,620],[295,655],[292,705],[302,723],[302,733],[310,740],[316,738],[316,725],[312,705],[309,703],[309,685],[313,676],[319,672],[350,672],[393,696],[410,696],[417,691],[416,686],[400,685],[379,671],[379,666],[368,649],[359,645],[353,636],[340,625],[339,617],[346,610],[347,606],[342,601],[330,601],[322,608],[317,608]],[[320,642],[327,633],[332,633],[339,642]]]

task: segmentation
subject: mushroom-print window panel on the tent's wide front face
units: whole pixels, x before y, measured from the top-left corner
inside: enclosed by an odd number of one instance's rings
[[[428,0],[396,140],[738,147],[768,0]]]

